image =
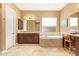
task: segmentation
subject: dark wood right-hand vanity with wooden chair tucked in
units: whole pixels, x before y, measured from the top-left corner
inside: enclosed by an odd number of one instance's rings
[[[74,51],[76,56],[79,56],[79,34],[65,34],[64,48]]]

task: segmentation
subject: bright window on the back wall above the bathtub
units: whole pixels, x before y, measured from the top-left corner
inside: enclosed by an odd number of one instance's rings
[[[56,26],[56,17],[42,17],[42,32],[56,32]]]

